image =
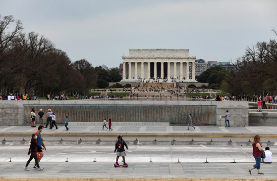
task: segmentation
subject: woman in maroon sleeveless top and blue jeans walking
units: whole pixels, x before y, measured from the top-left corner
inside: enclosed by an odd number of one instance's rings
[[[252,143],[252,147],[253,147],[253,156],[256,160],[256,164],[253,165],[253,167],[251,167],[250,169],[248,169],[248,172],[250,173],[250,175],[252,175],[251,171],[253,169],[257,169],[258,171],[258,175],[264,175],[263,173],[261,173],[260,168],[261,168],[261,159],[262,159],[262,150],[264,145],[261,142],[261,137],[259,135],[254,136],[254,140]]]

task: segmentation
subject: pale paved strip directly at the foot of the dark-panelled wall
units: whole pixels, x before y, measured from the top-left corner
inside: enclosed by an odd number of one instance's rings
[[[114,132],[132,132],[132,133],[252,133],[252,134],[277,134],[277,127],[218,127],[218,126],[196,126],[194,130],[190,127],[187,130],[186,126],[112,126]],[[102,131],[102,126],[70,126],[68,125],[69,131],[66,131],[64,126],[58,126],[58,129],[49,128],[44,129],[45,133],[109,133],[109,130],[104,128]],[[10,132],[35,132],[37,128],[31,126],[0,126],[0,133],[10,133]]]

